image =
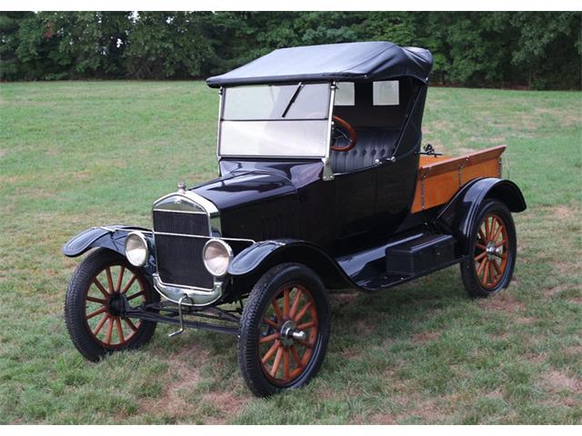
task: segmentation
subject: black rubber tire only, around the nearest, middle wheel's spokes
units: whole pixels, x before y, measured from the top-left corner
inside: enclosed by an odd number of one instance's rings
[[[273,384],[266,378],[259,362],[258,340],[266,307],[276,292],[287,282],[301,282],[309,289],[316,303],[319,320],[314,352],[306,370],[285,386]],[[266,272],[250,293],[240,322],[238,363],[246,385],[257,397],[268,397],[287,389],[297,389],[309,382],[324,361],[329,340],[330,310],[326,287],[316,272],[300,263],[283,263]]]

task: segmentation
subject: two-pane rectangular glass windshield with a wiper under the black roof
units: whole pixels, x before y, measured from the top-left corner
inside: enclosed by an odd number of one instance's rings
[[[226,88],[219,154],[325,157],[329,98],[329,84]]]

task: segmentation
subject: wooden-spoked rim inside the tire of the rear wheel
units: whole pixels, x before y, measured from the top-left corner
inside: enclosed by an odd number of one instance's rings
[[[494,289],[507,269],[509,243],[506,224],[497,213],[487,213],[477,232],[475,269],[481,286]]]

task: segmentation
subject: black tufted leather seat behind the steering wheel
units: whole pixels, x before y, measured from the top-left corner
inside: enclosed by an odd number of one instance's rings
[[[357,143],[349,152],[331,151],[331,167],[334,173],[349,173],[374,165],[376,159],[393,153],[400,130],[370,127],[356,128]],[[336,145],[346,146],[347,140],[340,138]]]

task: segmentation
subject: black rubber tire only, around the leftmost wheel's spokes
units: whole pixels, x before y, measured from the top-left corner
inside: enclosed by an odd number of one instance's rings
[[[65,322],[75,348],[92,362],[97,362],[115,351],[135,350],[146,344],[156,332],[157,322],[143,321],[135,336],[125,346],[107,348],[96,342],[85,321],[85,298],[93,278],[106,266],[122,264],[131,272],[138,274],[145,283],[146,302],[158,302],[159,294],[151,288],[144,273],[127,262],[125,256],[105,248],[96,249],[78,264],[69,282],[65,296]]]

